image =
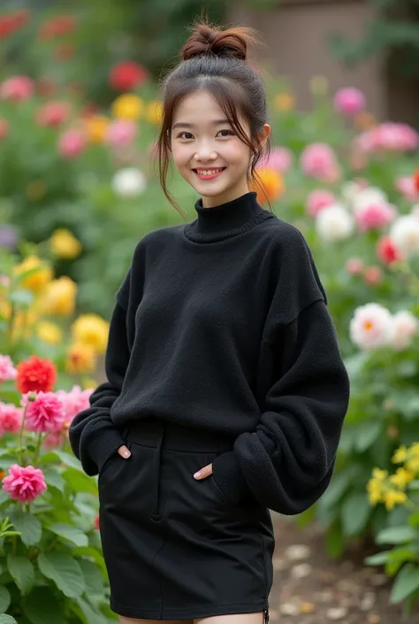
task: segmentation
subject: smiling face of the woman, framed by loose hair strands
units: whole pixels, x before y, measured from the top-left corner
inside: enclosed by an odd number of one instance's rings
[[[248,126],[243,124],[248,133]],[[171,153],[180,175],[205,207],[248,193],[251,150],[234,134],[208,91],[185,96],[173,115]]]

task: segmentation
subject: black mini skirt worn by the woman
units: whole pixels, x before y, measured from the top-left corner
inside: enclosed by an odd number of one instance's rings
[[[131,457],[113,453],[98,480],[111,610],[147,620],[264,612],[267,624],[270,511],[251,494],[234,504],[212,476],[193,476],[233,440],[157,419],[123,437]]]

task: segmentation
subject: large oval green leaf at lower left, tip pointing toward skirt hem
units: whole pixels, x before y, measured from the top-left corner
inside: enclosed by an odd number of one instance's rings
[[[38,566],[42,574],[54,581],[69,598],[80,597],[86,589],[79,563],[64,552],[41,552]]]

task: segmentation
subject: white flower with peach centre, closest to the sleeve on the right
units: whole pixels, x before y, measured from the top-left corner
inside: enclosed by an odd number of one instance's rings
[[[363,351],[391,344],[392,314],[380,304],[362,305],[354,311],[349,324],[351,340]]]

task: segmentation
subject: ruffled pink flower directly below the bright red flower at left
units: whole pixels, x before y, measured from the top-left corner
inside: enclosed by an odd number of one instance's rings
[[[27,396],[23,398],[27,404]],[[61,399],[54,392],[37,392],[34,401],[27,406],[25,424],[31,431],[59,431],[64,422],[64,410]]]

